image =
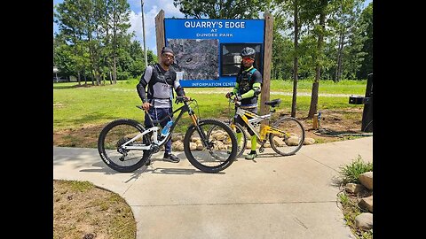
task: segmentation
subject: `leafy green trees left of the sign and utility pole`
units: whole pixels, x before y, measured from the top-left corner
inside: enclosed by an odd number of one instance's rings
[[[61,73],[97,85],[140,76],[144,54],[138,42],[131,42],[126,0],[64,0],[55,10],[54,65]],[[153,60],[153,52],[148,53]]]

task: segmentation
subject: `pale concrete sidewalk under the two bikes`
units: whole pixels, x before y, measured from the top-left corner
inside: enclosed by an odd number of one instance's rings
[[[272,152],[241,156],[220,173],[199,171],[184,152],[175,152],[178,164],[163,162],[159,152],[151,166],[117,173],[96,149],[53,147],[53,179],[118,193],[134,213],[137,238],[355,238],[334,180],[358,156],[373,161],[373,137],[306,145],[289,157]]]

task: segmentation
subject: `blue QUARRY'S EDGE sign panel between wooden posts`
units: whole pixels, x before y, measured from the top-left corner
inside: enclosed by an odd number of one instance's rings
[[[164,19],[164,38],[183,87],[233,87],[247,46],[263,73],[264,19]]]

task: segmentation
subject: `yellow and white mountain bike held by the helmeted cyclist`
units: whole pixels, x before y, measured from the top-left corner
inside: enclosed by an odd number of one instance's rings
[[[237,101],[235,96],[231,97],[231,103],[235,104],[235,116],[230,120],[230,127],[234,133],[242,132],[241,142],[238,142],[237,158],[242,155],[247,146],[247,135],[245,129],[234,120],[237,116],[247,124],[247,126],[256,134],[257,142],[260,143],[259,152],[264,152],[265,143],[269,140],[272,150],[282,156],[294,155],[304,144],[304,127],[299,120],[289,116],[280,116],[277,120],[271,120],[276,112],[275,107],[281,102],[280,99],[265,102],[271,106],[269,114],[257,115],[241,108],[241,102]],[[262,120],[269,120],[268,125],[259,127]]]

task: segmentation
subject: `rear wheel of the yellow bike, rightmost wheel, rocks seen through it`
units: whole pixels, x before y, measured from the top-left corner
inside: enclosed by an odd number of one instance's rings
[[[272,124],[269,134],[272,150],[280,155],[296,154],[304,144],[304,127],[295,118],[281,118]]]

